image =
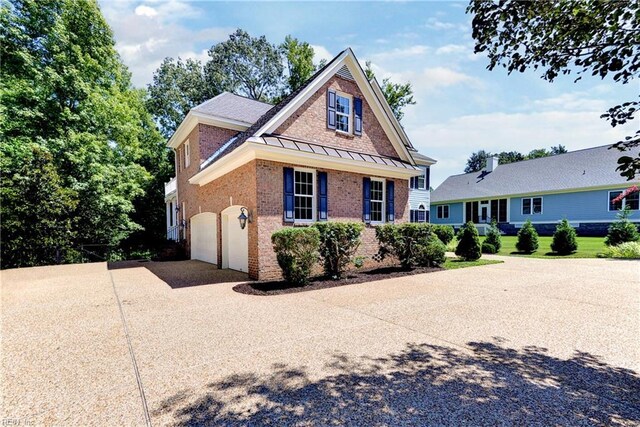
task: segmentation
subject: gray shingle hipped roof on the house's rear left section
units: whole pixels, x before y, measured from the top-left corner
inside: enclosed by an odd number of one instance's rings
[[[233,93],[223,92],[193,107],[191,111],[237,120],[251,125],[272,107],[273,105],[271,104],[245,98]]]

